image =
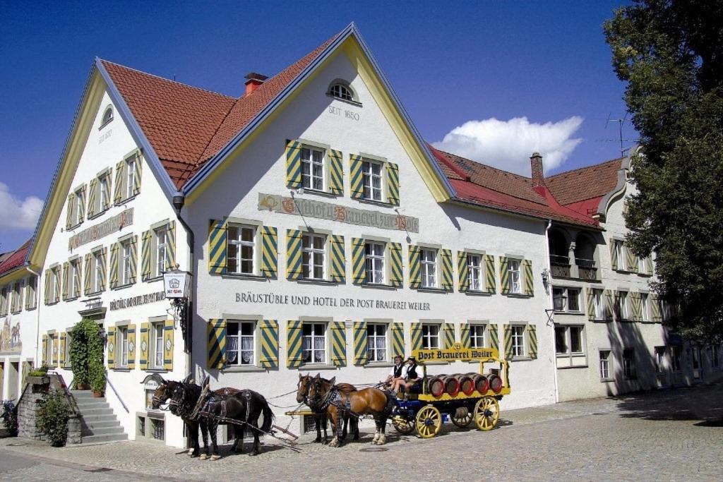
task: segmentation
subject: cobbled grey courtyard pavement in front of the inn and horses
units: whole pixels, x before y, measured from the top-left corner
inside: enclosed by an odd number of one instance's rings
[[[258,457],[214,462],[142,442],[54,449],[0,439],[0,480],[719,481],[722,405],[723,385],[697,387],[503,410],[489,432],[449,424],[419,439],[389,429],[382,451],[367,451],[376,449],[368,432],[341,449],[305,438],[294,451],[267,438]]]

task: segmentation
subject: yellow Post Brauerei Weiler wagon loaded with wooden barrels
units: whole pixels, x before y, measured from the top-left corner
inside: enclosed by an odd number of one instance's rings
[[[508,361],[500,360],[495,348],[415,350],[412,355],[424,371],[421,393],[408,393],[398,400],[391,422],[401,434],[415,429],[425,439],[439,434],[448,419],[458,427],[474,421],[480,430],[492,430],[500,418],[502,396],[510,394]],[[427,374],[427,363],[449,361],[479,362],[479,372],[452,375]],[[485,363],[499,363],[499,369],[484,373]]]

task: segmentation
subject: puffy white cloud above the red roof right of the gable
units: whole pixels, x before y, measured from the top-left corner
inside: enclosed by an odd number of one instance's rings
[[[582,142],[572,137],[582,124],[583,118],[579,116],[545,124],[531,123],[526,117],[509,121],[493,117],[466,121],[432,145],[463,158],[530,176],[532,152],[542,154],[546,170],[556,168]]]

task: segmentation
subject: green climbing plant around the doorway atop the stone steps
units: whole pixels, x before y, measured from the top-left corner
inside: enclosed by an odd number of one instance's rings
[[[103,340],[100,339],[98,323],[84,318],[68,333],[70,336],[70,366],[76,387],[93,383],[91,368],[103,367]],[[103,380],[105,387],[105,377]]]

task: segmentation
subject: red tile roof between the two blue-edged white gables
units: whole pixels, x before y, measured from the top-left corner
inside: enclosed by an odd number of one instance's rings
[[[168,176],[180,188],[335,38],[240,98],[102,62]]]

